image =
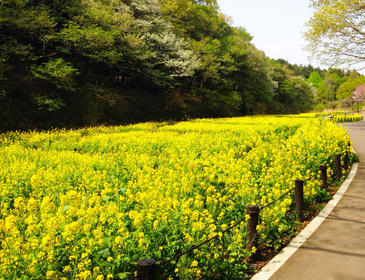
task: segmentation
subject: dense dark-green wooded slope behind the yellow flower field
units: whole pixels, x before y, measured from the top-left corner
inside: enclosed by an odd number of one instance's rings
[[[311,109],[308,77],[251,40],[216,0],[4,1],[0,129]]]

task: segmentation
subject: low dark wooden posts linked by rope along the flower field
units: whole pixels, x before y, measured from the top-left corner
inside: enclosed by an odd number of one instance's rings
[[[349,143],[349,145],[351,145]],[[348,167],[348,153],[347,151],[345,152],[344,155],[344,160],[345,160],[345,164],[344,167]],[[334,157],[334,166],[335,166],[335,179],[340,179],[341,177],[341,155],[340,154],[336,154]],[[347,168],[346,168],[347,169]],[[328,182],[327,182],[327,165],[320,165],[319,166],[319,170],[320,170],[320,180],[321,180],[321,188],[327,190],[328,189]],[[258,225],[258,218],[259,218],[259,212],[264,210],[265,208],[273,205],[275,202],[281,200],[282,198],[284,198],[286,195],[288,195],[289,193],[291,193],[292,191],[295,191],[295,211],[298,215],[298,220],[300,222],[303,222],[303,184],[304,182],[308,182],[311,179],[317,177],[317,174],[314,174],[312,176],[310,176],[309,178],[307,178],[306,180],[295,180],[295,187],[291,188],[290,190],[286,191],[284,194],[282,194],[280,197],[276,198],[275,200],[271,201],[270,203],[268,203],[265,206],[261,206],[258,207],[257,205],[247,205],[246,207],[246,213],[250,215],[250,219],[248,219],[247,221],[247,229],[246,229],[246,248],[250,251],[252,249],[252,247],[255,245],[255,237],[257,236],[257,230],[256,227]],[[226,228],[225,230],[219,232],[218,234],[212,236],[211,238],[201,242],[198,245],[194,245],[193,247],[191,247],[188,250],[185,250],[183,252],[180,252],[179,254],[165,260],[162,261],[160,263],[156,263],[155,260],[153,259],[142,259],[139,260],[137,262],[137,275],[134,276],[132,279],[140,279],[140,280],[154,280],[155,279],[155,270],[157,267],[161,267],[173,260],[179,259],[180,257],[182,257],[183,255],[186,255],[198,248],[200,248],[201,246],[211,242],[214,239],[220,238],[222,237],[222,235],[228,231],[230,231],[231,229],[233,229],[234,227],[240,225],[241,223],[243,223],[244,221],[246,221],[246,217],[244,217],[243,219],[241,219],[240,221],[234,223],[233,225],[231,225],[230,227]]]

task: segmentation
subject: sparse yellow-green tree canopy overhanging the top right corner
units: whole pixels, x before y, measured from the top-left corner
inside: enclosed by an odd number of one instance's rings
[[[363,67],[364,0],[311,0],[311,4],[315,12],[305,37],[312,54],[325,64]]]

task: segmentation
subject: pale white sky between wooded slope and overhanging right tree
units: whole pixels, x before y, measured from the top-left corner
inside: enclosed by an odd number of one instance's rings
[[[223,14],[253,36],[253,44],[270,58],[292,64],[318,65],[304,50],[305,23],[313,11],[309,0],[218,0]]]

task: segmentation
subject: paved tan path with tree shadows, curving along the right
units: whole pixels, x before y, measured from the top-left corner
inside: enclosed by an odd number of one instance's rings
[[[322,225],[271,280],[365,280],[365,121],[344,125],[360,164]]]

